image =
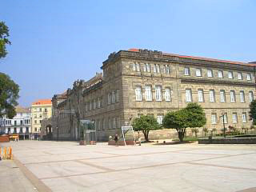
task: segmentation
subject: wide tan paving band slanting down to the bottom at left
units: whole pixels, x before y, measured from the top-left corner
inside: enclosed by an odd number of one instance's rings
[[[17,158],[14,157],[14,163],[22,171],[22,173],[28,178],[33,186],[36,187],[38,192],[51,192],[50,188],[46,186],[39,178],[37,178],[26,166],[22,164]]]

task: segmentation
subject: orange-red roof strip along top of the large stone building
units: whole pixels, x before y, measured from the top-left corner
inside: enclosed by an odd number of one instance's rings
[[[139,52],[140,49],[137,48],[132,48],[128,51],[134,51],[134,52]],[[191,59],[198,59],[198,60],[204,60],[204,61],[210,61],[210,62],[225,62],[225,63],[231,63],[231,64],[237,64],[237,65],[244,65],[244,66],[256,66],[256,63],[250,62],[232,62],[228,60],[222,60],[222,59],[216,59],[216,58],[202,58],[202,57],[195,57],[195,56],[187,56],[187,55],[180,55],[180,54],[168,54],[168,53],[162,53],[164,55],[169,55],[169,56],[175,56],[178,58],[191,58]]]

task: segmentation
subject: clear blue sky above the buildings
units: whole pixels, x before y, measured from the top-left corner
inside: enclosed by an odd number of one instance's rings
[[[256,61],[254,0],[0,2],[12,43],[0,72],[20,86],[20,106],[92,78],[118,50]]]

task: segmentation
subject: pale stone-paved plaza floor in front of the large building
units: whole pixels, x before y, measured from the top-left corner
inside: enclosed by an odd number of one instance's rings
[[[38,191],[256,191],[256,145],[6,145]]]

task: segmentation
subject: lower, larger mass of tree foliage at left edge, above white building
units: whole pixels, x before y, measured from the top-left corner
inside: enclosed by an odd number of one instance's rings
[[[0,118],[3,115],[7,115],[8,118],[16,115],[18,92],[18,85],[7,74],[0,73]]]

